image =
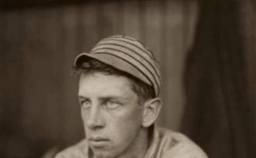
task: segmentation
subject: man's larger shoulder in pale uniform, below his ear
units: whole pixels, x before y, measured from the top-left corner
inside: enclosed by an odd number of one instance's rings
[[[159,145],[163,146],[162,158],[207,158],[198,145],[179,132],[159,128],[159,139]]]

